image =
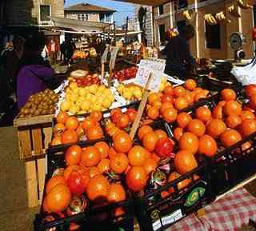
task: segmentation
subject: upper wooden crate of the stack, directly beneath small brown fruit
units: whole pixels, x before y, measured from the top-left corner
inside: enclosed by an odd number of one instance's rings
[[[46,153],[52,136],[54,115],[30,118],[15,118],[18,129],[18,149],[21,159],[40,156]]]

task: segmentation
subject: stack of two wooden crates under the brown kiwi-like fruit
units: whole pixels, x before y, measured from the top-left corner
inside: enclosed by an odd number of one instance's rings
[[[26,167],[28,206],[41,204],[46,176],[46,149],[51,141],[54,115],[15,118],[18,131],[18,150]]]

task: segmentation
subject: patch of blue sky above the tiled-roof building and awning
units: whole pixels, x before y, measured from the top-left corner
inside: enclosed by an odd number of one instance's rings
[[[117,10],[118,12],[114,13],[114,21],[118,26],[126,23],[126,17],[133,17],[133,4],[124,3],[124,2],[115,2],[111,0],[66,0],[65,6],[71,6],[78,3],[90,3],[96,6],[105,6],[107,8]]]

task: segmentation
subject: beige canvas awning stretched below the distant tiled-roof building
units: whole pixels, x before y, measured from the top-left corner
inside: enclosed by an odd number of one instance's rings
[[[109,26],[111,26],[110,23],[105,22],[90,22],[58,17],[49,18],[54,22],[54,26],[70,28],[72,30],[82,31],[86,33],[102,32],[104,29],[109,28]]]

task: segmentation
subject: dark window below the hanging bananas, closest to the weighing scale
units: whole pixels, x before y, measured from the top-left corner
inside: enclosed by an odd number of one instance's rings
[[[221,27],[206,23],[206,48],[221,49]]]

